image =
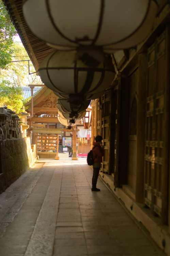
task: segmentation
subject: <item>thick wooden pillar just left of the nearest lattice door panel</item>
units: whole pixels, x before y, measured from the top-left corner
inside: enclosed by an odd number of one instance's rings
[[[145,105],[146,105],[146,53],[139,54],[138,100],[137,100],[137,141],[136,141],[136,202],[143,202]]]

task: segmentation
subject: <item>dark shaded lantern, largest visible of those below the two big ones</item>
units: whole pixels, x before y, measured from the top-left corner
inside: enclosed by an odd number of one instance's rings
[[[79,99],[79,100],[70,102],[69,99],[59,98],[56,104],[57,104],[57,108],[61,113],[71,114],[72,116],[75,116],[77,114],[81,114],[84,111],[86,111],[86,109],[90,104],[90,100],[82,101],[81,99]]]

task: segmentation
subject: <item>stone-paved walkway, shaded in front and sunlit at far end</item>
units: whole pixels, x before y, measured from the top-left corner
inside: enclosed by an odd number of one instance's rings
[[[0,256],[163,256],[92,169],[39,159],[0,195]]]

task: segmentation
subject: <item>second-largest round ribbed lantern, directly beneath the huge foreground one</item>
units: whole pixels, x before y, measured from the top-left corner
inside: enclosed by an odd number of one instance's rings
[[[90,67],[70,51],[50,53],[41,62],[38,73],[57,96],[68,99],[74,95],[86,100],[102,96],[115,76],[111,59],[105,57],[105,62]]]

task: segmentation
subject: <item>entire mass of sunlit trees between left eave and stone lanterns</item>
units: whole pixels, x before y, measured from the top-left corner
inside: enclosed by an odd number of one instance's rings
[[[0,106],[21,112],[22,106],[30,100],[24,99],[21,87],[42,84],[40,76],[29,75],[29,56],[21,42],[14,41],[17,32],[0,0]],[[30,64],[30,73],[35,69]]]

